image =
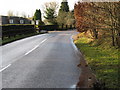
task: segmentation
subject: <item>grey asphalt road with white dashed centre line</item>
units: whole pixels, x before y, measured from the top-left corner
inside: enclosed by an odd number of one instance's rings
[[[3,88],[72,88],[78,81],[80,57],[71,36],[51,32],[1,46]]]

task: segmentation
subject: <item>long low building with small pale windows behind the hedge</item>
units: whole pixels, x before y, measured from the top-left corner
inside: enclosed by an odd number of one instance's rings
[[[31,24],[31,20],[17,16],[0,16],[0,25],[4,24]]]

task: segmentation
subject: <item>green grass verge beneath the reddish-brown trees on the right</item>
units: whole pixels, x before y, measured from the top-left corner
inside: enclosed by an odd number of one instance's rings
[[[76,40],[75,44],[83,53],[97,79],[104,81],[107,88],[118,88],[119,50],[114,47],[108,48],[107,44],[104,48],[103,45],[92,45],[89,41],[90,39],[82,37]]]

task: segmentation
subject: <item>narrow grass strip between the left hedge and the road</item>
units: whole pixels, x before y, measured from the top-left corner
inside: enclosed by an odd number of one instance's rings
[[[3,40],[0,40],[0,45],[4,45],[19,39],[23,39],[26,37],[30,37],[30,36],[34,36],[34,35],[38,35],[38,34],[42,34],[42,33],[31,33],[31,34],[26,34],[26,35],[16,35],[15,37],[10,37],[10,38],[4,38]]]

